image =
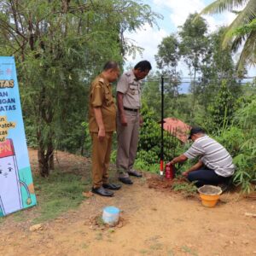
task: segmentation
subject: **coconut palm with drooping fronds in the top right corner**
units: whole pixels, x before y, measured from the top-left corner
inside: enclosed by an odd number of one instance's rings
[[[234,11],[235,8],[243,8]],[[238,71],[246,65],[256,65],[256,0],[216,0],[203,9],[200,15],[212,15],[231,11],[236,19],[227,27],[222,46],[230,47],[241,55],[238,61]]]

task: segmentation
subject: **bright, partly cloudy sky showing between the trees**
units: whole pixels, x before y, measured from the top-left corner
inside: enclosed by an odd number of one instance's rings
[[[183,26],[183,23],[188,18],[189,14],[201,12],[213,0],[144,0],[143,3],[148,4],[151,9],[163,16],[163,20],[157,20],[158,26],[151,27],[148,24],[143,26],[143,29],[137,32],[126,33],[125,38],[129,38],[133,43],[143,47],[143,54],[128,56],[126,66],[134,67],[138,61],[148,60],[156,69],[154,55],[157,54],[157,46],[161,40],[173,32],[177,32],[178,26]],[[214,32],[219,26],[227,26],[235,19],[236,15],[226,12],[223,15],[205,15],[207,20],[208,31]],[[181,65],[183,76],[188,72],[184,65]],[[255,76],[256,68],[250,68],[248,76]]]

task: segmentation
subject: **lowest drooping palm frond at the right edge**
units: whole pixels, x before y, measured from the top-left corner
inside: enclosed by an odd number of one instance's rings
[[[238,71],[247,64],[256,66],[256,31],[249,34],[238,61]]]

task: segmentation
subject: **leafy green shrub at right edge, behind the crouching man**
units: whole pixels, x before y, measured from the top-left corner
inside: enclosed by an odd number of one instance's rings
[[[236,172],[233,182],[245,193],[255,190],[256,180],[256,99],[236,111],[235,121],[217,140],[233,156]]]

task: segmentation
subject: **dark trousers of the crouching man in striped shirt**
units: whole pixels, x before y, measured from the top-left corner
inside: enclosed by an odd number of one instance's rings
[[[189,182],[195,182],[195,186],[200,188],[203,185],[215,185],[220,183],[228,183],[230,177],[219,176],[212,169],[204,167],[202,169],[189,172],[188,175]]]

